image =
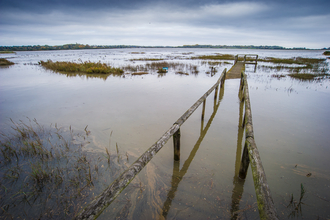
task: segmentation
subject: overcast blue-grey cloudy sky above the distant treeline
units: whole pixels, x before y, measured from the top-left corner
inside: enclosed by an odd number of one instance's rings
[[[0,0],[0,45],[330,47],[330,0]]]

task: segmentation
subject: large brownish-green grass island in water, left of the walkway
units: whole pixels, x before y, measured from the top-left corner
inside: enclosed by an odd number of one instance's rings
[[[46,69],[50,69],[58,72],[80,72],[89,74],[113,74],[122,75],[124,71],[120,68],[113,68],[107,64],[98,62],[93,63],[86,61],[84,63],[73,63],[73,62],[53,62],[51,60],[40,61],[39,64]]]

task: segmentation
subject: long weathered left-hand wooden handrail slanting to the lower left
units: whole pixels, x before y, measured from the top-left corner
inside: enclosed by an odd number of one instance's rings
[[[140,156],[127,170],[125,170],[111,185],[109,185],[100,195],[90,202],[74,219],[96,219],[105,208],[128,186],[134,177],[147,165],[147,163],[156,155],[156,153],[166,144],[180,126],[189,118],[189,116],[198,108],[198,106],[207,98],[207,96],[219,86],[220,81],[226,75],[226,69],[222,72],[217,82],[193,104],[173,125],[172,127],[144,154]]]

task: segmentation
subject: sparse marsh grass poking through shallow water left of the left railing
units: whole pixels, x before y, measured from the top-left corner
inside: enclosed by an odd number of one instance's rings
[[[126,168],[118,145],[117,155],[86,151],[90,134],[11,120],[0,136],[0,216],[72,219]]]

